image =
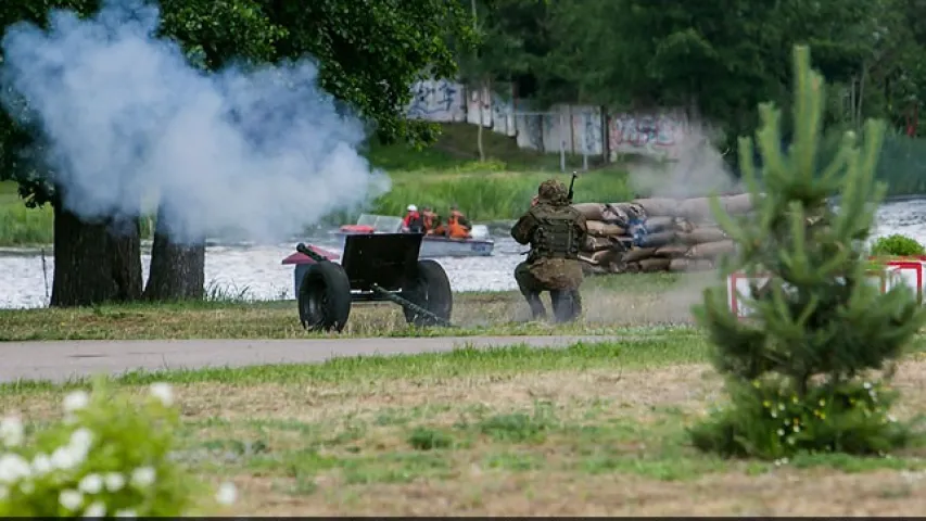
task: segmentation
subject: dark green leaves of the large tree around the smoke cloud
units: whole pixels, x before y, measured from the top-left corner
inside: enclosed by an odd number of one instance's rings
[[[0,27],[46,25],[51,9],[94,13],[98,0],[8,0]],[[310,56],[321,87],[376,127],[383,141],[433,141],[434,124],[409,122],[404,107],[422,74],[452,77],[456,49],[477,41],[468,12],[444,0],[161,0],[161,36],[176,39],[194,66],[215,71]],[[54,177],[41,161],[36,129],[0,113],[0,180],[20,183],[26,204],[55,202]]]

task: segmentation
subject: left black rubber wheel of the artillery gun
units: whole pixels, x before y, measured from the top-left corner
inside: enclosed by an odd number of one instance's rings
[[[351,281],[340,264],[312,265],[299,288],[299,319],[309,331],[338,331],[351,316]]]

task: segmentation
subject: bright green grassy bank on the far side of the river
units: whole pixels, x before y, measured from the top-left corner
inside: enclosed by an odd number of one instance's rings
[[[458,204],[477,220],[513,219],[524,212],[537,185],[551,176],[569,178],[559,170],[559,156],[518,149],[511,138],[485,132],[489,161],[479,162],[475,127],[455,124],[433,147],[416,151],[406,145],[372,144],[365,153],[393,179],[392,190],[373,202],[372,213],[403,215],[415,203],[430,204],[444,215]],[[582,158],[570,156],[568,166],[581,168]],[[607,168],[591,173],[576,182],[576,201],[605,198],[620,201],[630,196],[625,173]],[[356,220],[357,215],[333,215],[329,224]],[[148,218],[143,237],[151,238]],[[51,208],[29,209],[16,194],[16,185],[0,182],[0,246],[25,246],[52,242]]]

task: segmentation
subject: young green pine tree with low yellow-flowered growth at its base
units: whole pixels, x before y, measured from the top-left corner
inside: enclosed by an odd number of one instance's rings
[[[730,310],[725,289],[707,290],[703,304],[695,307],[715,346],[713,365],[730,380],[732,398],[731,411],[696,430],[702,446],[769,457],[781,450],[820,448],[834,436],[855,442],[833,449],[853,452],[883,450],[886,440],[902,440],[887,432],[893,429],[890,422],[872,423],[864,411],[868,419],[859,420],[852,411],[861,407],[857,404],[837,411],[838,421],[812,431],[819,440],[775,445],[770,440],[777,427],[772,429],[756,406],[783,389],[803,411],[814,410],[820,399],[851,394],[860,374],[884,369],[926,323],[926,310],[908,287],[880,293],[868,272],[864,242],[885,192],[874,179],[884,124],[867,123],[861,149],[848,132],[839,153],[819,165],[824,88],[820,74],[810,67],[808,48],[796,47],[795,139],[786,153],[779,144],[778,111],[769,103],[760,106],[763,126],[757,139],[764,165],[763,192],[757,182],[752,140],[740,139],[740,166],[756,215],[733,219],[713,201],[715,217],[739,246],[724,272],[743,270],[753,279],[760,274],[768,279],[761,289],[753,282],[752,295],[743,298],[753,310],[748,321]],[[838,212],[827,203],[837,193]]]

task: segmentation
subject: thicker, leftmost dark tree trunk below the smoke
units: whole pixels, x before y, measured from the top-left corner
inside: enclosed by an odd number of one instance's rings
[[[87,223],[54,205],[52,307],[131,302],[141,296],[141,243],[135,219]]]

